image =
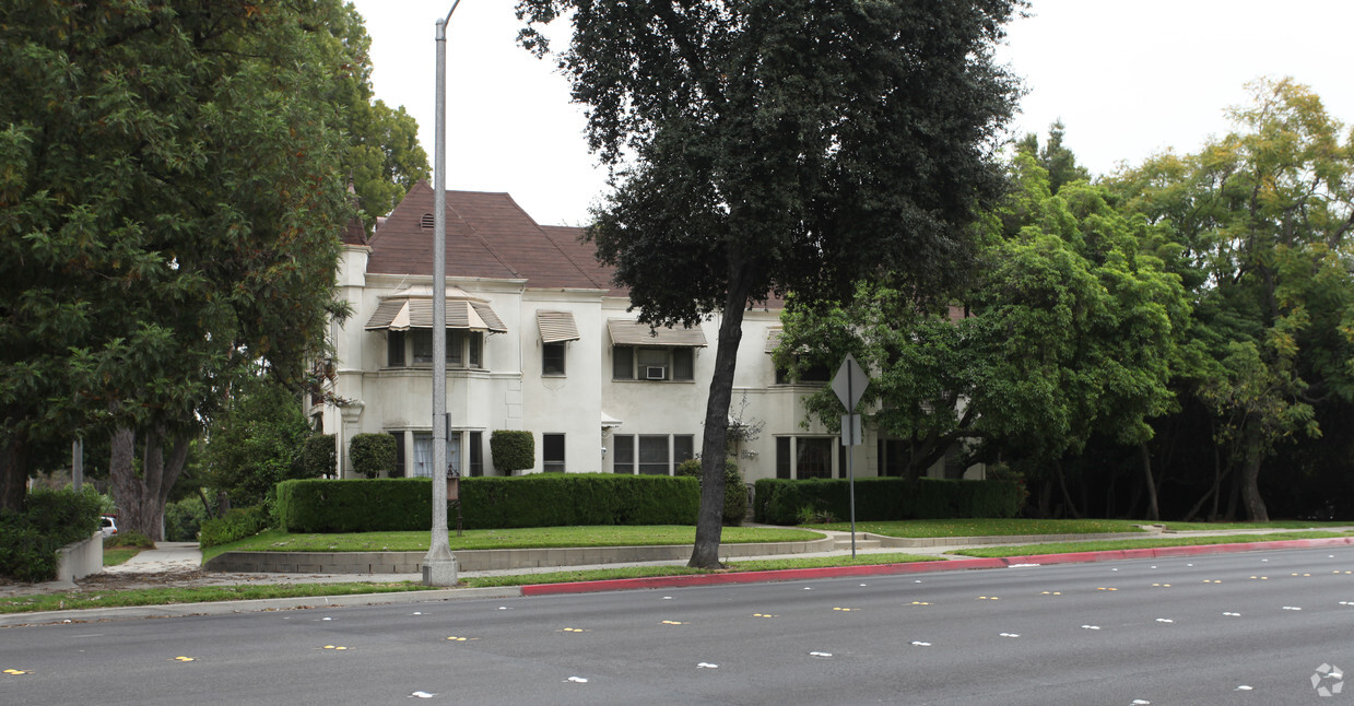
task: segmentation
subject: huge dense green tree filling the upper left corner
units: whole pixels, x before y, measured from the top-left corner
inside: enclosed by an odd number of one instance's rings
[[[0,499],[24,455],[112,434],[158,537],[203,420],[299,381],[333,312],[349,77],[338,0],[0,9]],[[137,444],[137,439],[142,442]],[[141,450],[139,469],[133,462]]]

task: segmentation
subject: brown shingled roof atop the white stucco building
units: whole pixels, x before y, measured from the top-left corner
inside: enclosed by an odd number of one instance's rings
[[[432,274],[432,196],[427,182],[409,190],[368,243],[368,272]],[[608,289],[609,274],[558,230],[538,225],[508,194],[447,191],[447,275]]]

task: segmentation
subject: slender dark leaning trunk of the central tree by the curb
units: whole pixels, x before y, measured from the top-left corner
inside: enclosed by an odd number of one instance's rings
[[[696,546],[688,566],[720,569],[719,538],[724,515],[724,442],[728,436],[728,404],[734,394],[734,369],[738,344],[743,339],[743,310],[747,308],[747,282],[735,270],[724,299],[724,318],[719,324],[715,350],[715,373],[705,400],[705,435],[700,446],[700,514],[696,516]]]

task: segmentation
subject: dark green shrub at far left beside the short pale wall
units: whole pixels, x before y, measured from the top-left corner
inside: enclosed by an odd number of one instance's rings
[[[99,531],[103,501],[97,492],[32,491],[23,512],[0,512],[0,576],[50,581],[57,550]]]

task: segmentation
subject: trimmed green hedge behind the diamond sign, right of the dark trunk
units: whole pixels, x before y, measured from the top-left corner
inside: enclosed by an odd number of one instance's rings
[[[850,482],[845,480],[764,478],[754,489],[753,514],[768,524],[798,524],[800,508],[850,516]],[[857,520],[1013,518],[1020,511],[1013,481],[857,478]]]

